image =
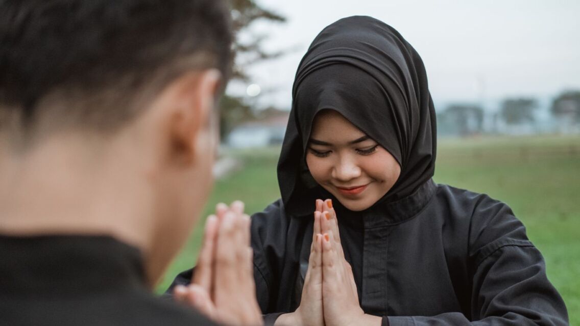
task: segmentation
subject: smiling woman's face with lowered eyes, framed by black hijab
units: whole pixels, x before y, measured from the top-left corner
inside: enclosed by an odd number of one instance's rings
[[[314,180],[351,211],[371,207],[401,174],[393,155],[333,110],[316,115],[306,164]]]

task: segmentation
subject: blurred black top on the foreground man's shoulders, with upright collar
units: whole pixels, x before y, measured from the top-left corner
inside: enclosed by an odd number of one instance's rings
[[[214,325],[151,294],[136,248],[85,236],[0,236],[0,324]]]

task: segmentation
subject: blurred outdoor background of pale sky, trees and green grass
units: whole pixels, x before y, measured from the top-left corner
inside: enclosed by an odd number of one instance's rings
[[[580,325],[580,2],[230,1],[235,74],[204,215],[235,199],[252,214],[280,197],[276,163],[300,58],[328,24],[373,16],[425,63],[437,111],[436,182],[509,204]],[[159,292],[194,265],[201,231]]]

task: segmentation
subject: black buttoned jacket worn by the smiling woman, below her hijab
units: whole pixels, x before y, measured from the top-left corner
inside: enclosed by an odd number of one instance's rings
[[[337,216],[361,307],[383,325],[568,324],[542,255],[506,204],[429,181],[380,214]],[[312,233],[311,215],[289,216],[281,200],[253,215],[264,314],[298,307]]]

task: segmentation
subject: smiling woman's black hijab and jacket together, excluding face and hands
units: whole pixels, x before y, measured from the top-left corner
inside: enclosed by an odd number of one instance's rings
[[[282,199],[252,217],[265,314],[299,306],[314,203],[331,198],[361,307],[384,316],[383,325],[568,324],[542,255],[512,210],[432,181],[433,101],[419,54],[397,31],[371,17],[329,25],[300,63],[292,94],[278,163]],[[307,169],[311,127],[324,109],[345,116],[401,166],[393,188],[365,211],[347,210]]]

